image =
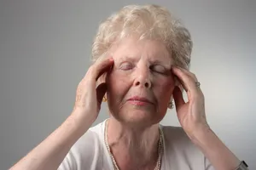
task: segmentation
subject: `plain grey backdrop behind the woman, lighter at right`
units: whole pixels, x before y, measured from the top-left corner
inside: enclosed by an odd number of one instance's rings
[[[7,169],[63,122],[90,65],[97,26],[131,4],[157,3],[183,20],[195,46],[191,71],[219,138],[256,169],[256,2],[35,1],[0,3],[0,167]],[[108,117],[106,104],[95,124]],[[162,121],[179,126],[174,111]]]

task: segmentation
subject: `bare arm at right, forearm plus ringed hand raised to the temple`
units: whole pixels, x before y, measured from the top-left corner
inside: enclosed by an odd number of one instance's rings
[[[212,167],[217,170],[236,170],[240,164],[239,159],[218,139],[207,124],[204,95],[195,75],[174,65],[172,72],[188,94],[189,101],[185,103],[181,90],[173,90],[177,118],[184,131],[201,149]]]

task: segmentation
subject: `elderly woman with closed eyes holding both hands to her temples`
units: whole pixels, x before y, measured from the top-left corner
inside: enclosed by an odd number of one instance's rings
[[[189,32],[166,8],[127,6],[110,16],[72,114],[11,169],[247,169],[207,124],[200,83],[189,72],[191,48]],[[90,127],[102,100],[110,117]],[[172,100],[181,127],[160,125]]]

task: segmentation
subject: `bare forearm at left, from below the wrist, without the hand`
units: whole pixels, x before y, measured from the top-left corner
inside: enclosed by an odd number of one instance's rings
[[[84,126],[81,127],[73,116],[69,116],[47,139],[44,139],[41,144],[38,144],[36,148],[10,169],[57,169],[73,144],[89,127],[90,122],[84,122]]]

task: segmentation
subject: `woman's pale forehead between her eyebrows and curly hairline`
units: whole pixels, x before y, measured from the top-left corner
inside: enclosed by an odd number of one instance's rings
[[[111,49],[113,59],[141,58],[159,60],[172,63],[170,52],[166,49],[163,42],[157,40],[143,39],[137,37],[125,37],[117,42]]]

